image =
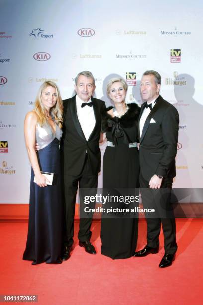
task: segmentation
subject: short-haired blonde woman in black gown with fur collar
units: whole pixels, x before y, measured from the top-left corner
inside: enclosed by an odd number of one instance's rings
[[[124,79],[115,78],[109,81],[107,93],[115,107],[106,108],[102,115],[102,131],[106,133],[107,138],[103,158],[104,194],[110,192],[110,195],[131,195],[132,189],[135,191],[139,188],[139,107],[125,103],[126,92],[127,84]],[[124,193],[121,189],[125,189]],[[139,191],[135,191],[135,194],[139,196]],[[119,208],[132,207],[118,202],[108,203],[108,207],[109,205]],[[135,206],[136,204],[133,205]],[[137,244],[138,217],[136,213],[132,215],[119,212],[110,217],[107,218],[106,213],[102,214],[101,252],[112,259],[129,258],[134,254]]]

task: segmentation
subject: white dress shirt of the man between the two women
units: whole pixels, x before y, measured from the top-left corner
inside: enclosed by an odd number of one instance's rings
[[[91,98],[87,103],[91,102]],[[86,140],[89,139],[94,127],[95,127],[95,114],[93,110],[93,106],[85,106],[81,107],[82,101],[78,95],[76,95],[76,109],[77,109],[77,115],[78,120],[80,122],[81,128],[83,130],[83,133],[85,135]]]

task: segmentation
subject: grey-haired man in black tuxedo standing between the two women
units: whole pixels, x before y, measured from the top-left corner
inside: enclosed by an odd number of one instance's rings
[[[63,170],[65,196],[65,234],[61,260],[67,260],[73,245],[76,194],[80,188],[96,189],[100,171],[101,154],[99,138],[101,111],[105,102],[92,95],[95,79],[91,72],[80,72],[75,78],[76,95],[64,100]],[[80,202],[80,214],[84,214]],[[90,215],[89,215],[90,216]],[[80,218],[79,245],[86,252],[96,254],[90,243],[92,217]]]

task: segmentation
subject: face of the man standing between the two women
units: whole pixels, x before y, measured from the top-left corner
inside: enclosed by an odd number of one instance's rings
[[[93,79],[80,75],[77,85],[75,85],[75,91],[82,101],[88,102],[95,91]]]

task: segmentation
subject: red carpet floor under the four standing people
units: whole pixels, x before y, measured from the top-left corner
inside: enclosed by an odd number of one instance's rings
[[[22,260],[27,223],[0,223],[0,295],[34,294],[40,305],[203,304],[202,219],[177,220],[179,248],[166,269],[158,267],[164,254],[162,234],[158,254],[111,260],[100,253],[99,221],[94,221],[92,231],[97,255],[78,246],[76,221],[71,258],[61,265],[32,266]],[[141,220],[137,250],[145,245],[145,236],[146,223]]]

